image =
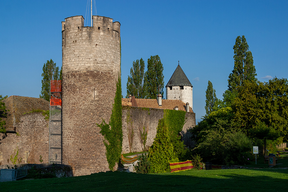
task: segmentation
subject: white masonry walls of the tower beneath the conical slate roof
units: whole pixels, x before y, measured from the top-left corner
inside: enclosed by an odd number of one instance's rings
[[[184,103],[189,103],[189,106],[193,109],[193,87],[183,86],[184,89],[180,89],[180,86],[166,87],[166,99],[181,100]]]

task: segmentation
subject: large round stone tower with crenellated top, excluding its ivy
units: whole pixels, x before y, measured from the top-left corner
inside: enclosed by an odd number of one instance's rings
[[[62,22],[62,163],[75,176],[107,171],[103,136],[97,124],[109,123],[120,75],[120,23],[93,16]]]

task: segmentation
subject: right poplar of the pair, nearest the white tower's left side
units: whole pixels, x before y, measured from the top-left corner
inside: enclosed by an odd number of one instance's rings
[[[159,93],[163,96],[163,65],[158,55],[151,56],[147,61],[147,73],[145,77],[145,83],[147,90],[147,99],[156,99]]]

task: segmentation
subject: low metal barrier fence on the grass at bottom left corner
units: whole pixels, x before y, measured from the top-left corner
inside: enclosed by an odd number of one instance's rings
[[[1,169],[0,182],[15,181],[16,179],[27,176],[27,168],[20,169]]]

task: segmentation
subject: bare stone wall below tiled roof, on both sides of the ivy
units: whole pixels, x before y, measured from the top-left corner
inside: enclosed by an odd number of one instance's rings
[[[147,151],[156,136],[158,121],[163,117],[163,109],[122,106],[122,153]],[[187,130],[196,125],[195,113],[186,113],[185,117],[186,123],[183,126],[181,135],[186,146],[194,147],[194,142],[191,141],[191,134]],[[145,132],[147,132],[145,147],[141,138],[141,134],[143,135],[144,133],[144,127]]]

